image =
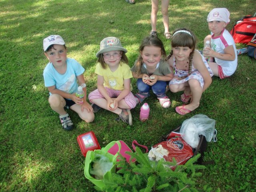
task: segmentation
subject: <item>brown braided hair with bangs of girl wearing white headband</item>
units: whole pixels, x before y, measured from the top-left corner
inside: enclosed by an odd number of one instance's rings
[[[180,32],[178,32],[180,31]],[[186,31],[186,32],[184,32]],[[177,33],[176,33],[177,32]],[[189,55],[189,64],[188,64],[188,74],[191,73],[192,70],[192,62],[193,62],[193,56],[196,49],[196,36],[195,34],[186,28],[179,28],[173,32],[171,46],[172,48],[175,47],[188,47],[192,49],[192,52]],[[173,52],[171,50],[170,54],[167,56],[167,60],[170,59]]]

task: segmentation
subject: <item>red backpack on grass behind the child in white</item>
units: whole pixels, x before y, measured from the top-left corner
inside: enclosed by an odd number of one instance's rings
[[[230,34],[233,36],[235,43],[248,44],[256,33],[256,16],[247,15],[240,18]]]

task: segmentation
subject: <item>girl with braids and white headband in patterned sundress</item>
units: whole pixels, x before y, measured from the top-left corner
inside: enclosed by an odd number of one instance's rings
[[[174,31],[172,50],[167,57],[174,77],[169,82],[171,92],[184,91],[181,101],[190,104],[178,106],[176,112],[181,115],[198,108],[202,93],[212,82],[212,70],[204,56],[196,48],[196,36],[186,28]]]

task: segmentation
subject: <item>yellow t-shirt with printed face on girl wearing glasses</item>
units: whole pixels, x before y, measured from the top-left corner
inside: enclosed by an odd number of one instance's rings
[[[104,86],[114,90],[124,90],[124,80],[132,78],[132,72],[130,67],[121,62],[116,71],[112,72],[107,66],[106,69],[103,69],[100,66],[100,63],[96,65],[95,73],[103,76]],[[132,85],[130,87],[132,90]]]

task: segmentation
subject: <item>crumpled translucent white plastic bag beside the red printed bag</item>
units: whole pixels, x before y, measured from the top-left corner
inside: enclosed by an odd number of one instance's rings
[[[204,135],[206,141],[210,142],[215,130],[214,119],[208,118],[203,114],[195,115],[189,119],[184,120],[180,128],[181,137],[193,148],[199,144],[199,136]]]

